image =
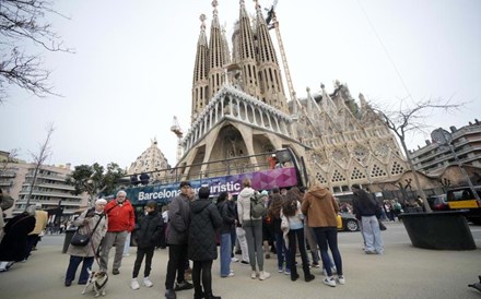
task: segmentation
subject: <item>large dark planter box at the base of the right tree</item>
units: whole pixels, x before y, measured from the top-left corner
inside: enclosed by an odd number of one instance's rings
[[[413,247],[474,250],[476,243],[462,211],[402,213],[399,215]]]

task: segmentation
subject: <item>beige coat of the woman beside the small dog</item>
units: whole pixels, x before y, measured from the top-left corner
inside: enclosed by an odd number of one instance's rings
[[[89,213],[89,216],[86,214]],[[91,216],[92,215],[92,216]],[[87,220],[89,223],[84,225],[84,220]],[[92,208],[89,208],[84,211],[82,214],[80,214],[79,217],[77,217],[73,220],[73,226],[78,227],[78,231],[82,235],[84,234],[92,234],[95,225],[97,224],[98,219],[101,219],[101,223],[98,224],[97,228],[95,229],[94,234],[90,238],[90,241],[86,246],[69,246],[69,249],[67,250],[67,253],[70,255],[75,256],[95,256],[95,251],[97,250],[102,239],[104,238],[105,234],[107,232],[107,223],[108,219],[106,218],[105,214],[98,214],[94,213]]]

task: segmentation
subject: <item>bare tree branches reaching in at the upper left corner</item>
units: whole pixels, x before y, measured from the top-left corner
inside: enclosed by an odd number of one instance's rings
[[[42,55],[26,51],[33,44],[48,51],[72,52],[62,46],[61,37],[46,21],[46,16],[52,14],[66,17],[52,7],[50,0],[0,1],[0,104],[8,98],[8,85],[16,85],[39,97],[57,95],[48,82],[50,71],[43,68]]]

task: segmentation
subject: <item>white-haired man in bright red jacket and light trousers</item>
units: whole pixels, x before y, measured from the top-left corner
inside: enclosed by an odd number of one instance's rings
[[[119,274],[119,267],[122,261],[124,246],[127,234],[133,230],[136,225],[133,207],[127,200],[125,191],[118,191],[115,200],[105,206],[105,214],[108,219],[108,229],[102,242],[101,271],[108,268],[108,253],[115,246],[115,256],[112,274]]]

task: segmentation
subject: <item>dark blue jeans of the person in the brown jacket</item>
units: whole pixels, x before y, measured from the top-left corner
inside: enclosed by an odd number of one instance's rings
[[[322,264],[326,267],[328,276],[332,276],[332,268],[328,248],[332,253],[338,275],[342,275],[342,259],[338,248],[338,228],[337,227],[313,227],[314,235],[316,236],[317,244],[320,249],[320,258]]]

